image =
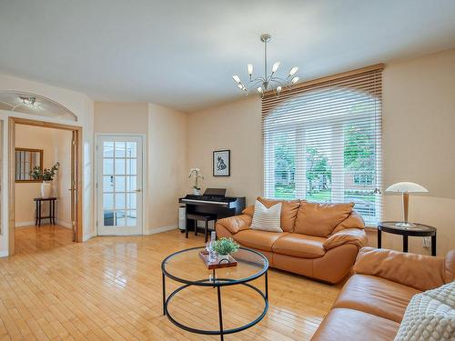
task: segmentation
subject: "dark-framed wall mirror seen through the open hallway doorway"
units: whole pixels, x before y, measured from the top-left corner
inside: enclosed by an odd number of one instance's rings
[[[35,166],[43,169],[43,149],[15,148],[15,182],[39,183],[30,172]]]

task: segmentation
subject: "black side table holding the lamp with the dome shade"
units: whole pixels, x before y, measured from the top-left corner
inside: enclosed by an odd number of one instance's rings
[[[382,246],[381,232],[403,236],[403,252],[408,252],[409,236],[430,236],[431,237],[431,256],[436,256],[436,227],[415,224],[415,226],[405,227],[396,226],[395,221],[384,221],[378,225],[378,248]]]

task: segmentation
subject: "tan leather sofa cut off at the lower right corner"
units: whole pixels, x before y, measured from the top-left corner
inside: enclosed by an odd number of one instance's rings
[[[313,341],[393,340],[410,298],[454,279],[455,250],[444,258],[364,247],[354,272]]]

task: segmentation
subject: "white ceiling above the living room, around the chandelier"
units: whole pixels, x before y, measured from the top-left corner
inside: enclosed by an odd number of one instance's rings
[[[454,47],[454,18],[454,0],[0,0],[0,72],[192,112],[241,96],[262,33],[305,80]]]

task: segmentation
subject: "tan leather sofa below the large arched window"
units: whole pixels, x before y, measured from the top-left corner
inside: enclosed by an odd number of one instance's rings
[[[267,207],[282,203],[282,233],[251,229],[254,206],[248,206],[240,216],[218,220],[217,237],[232,237],[241,246],[258,250],[272,267],[337,283],[367,243],[363,219],[353,204],[258,200]]]

